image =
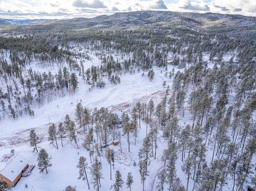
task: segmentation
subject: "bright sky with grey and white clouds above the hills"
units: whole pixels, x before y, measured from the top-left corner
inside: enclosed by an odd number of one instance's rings
[[[0,0],[0,18],[92,18],[116,12],[162,10],[256,16],[256,0]]]

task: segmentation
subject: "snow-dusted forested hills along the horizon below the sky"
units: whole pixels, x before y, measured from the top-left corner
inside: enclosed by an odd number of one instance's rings
[[[47,19],[1,19],[0,25],[29,25],[29,24],[54,24],[60,28],[115,28],[130,26],[160,25],[169,26],[256,26],[256,17],[242,15],[215,14],[215,13],[191,13],[170,11],[138,11],[116,13],[110,16],[101,15],[95,18],[74,18],[69,20]]]

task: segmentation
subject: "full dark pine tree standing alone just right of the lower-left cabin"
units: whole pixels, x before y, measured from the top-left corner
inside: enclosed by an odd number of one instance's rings
[[[40,173],[43,173],[44,169],[46,170],[46,173],[48,173],[47,167],[52,166],[52,163],[50,163],[51,159],[52,157],[49,158],[49,155],[46,152],[46,150],[40,150],[40,152],[38,153],[38,157],[36,159],[38,161],[38,169],[40,170]]]

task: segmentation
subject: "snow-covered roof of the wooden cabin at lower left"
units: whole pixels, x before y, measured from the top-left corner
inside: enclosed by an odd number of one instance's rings
[[[28,164],[28,160],[20,154],[17,154],[7,165],[0,171],[10,181],[14,181],[22,169]]]

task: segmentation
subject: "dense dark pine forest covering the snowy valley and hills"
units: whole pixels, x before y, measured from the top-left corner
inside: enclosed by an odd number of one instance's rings
[[[114,168],[109,137],[121,141],[125,136],[128,145],[134,138],[136,144],[143,122],[148,129],[137,164],[143,190],[158,139],[168,141],[168,148],[158,153],[164,163],[158,173],[159,191],[188,190],[189,183],[193,191],[217,191],[227,178],[233,182],[232,191],[243,190],[245,183],[255,190],[256,18],[143,11],[1,28],[0,124],[34,117],[35,108],[76,94],[79,86],[104,93],[106,82],[121,86],[123,74],[142,71],[154,81],[154,70],[161,69],[173,80],[172,85],[162,82],[161,99],[131,104],[121,117],[108,108],[78,103],[73,120],[66,115],[49,126],[49,141],[58,148],[57,139],[69,138],[79,148],[77,139],[83,139],[93,175],[101,157]],[[86,68],[84,62],[92,55],[99,61]],[[175,70],[167,70],[170,61]],[[190,124],[182,126],[186,118]],[[76,132],[81,127],[84,137]],[[35,136],[36,130],[30,134]],[[186,185],[176,169],[179,152]],[[93,179],[96,190],[100,178]]]

